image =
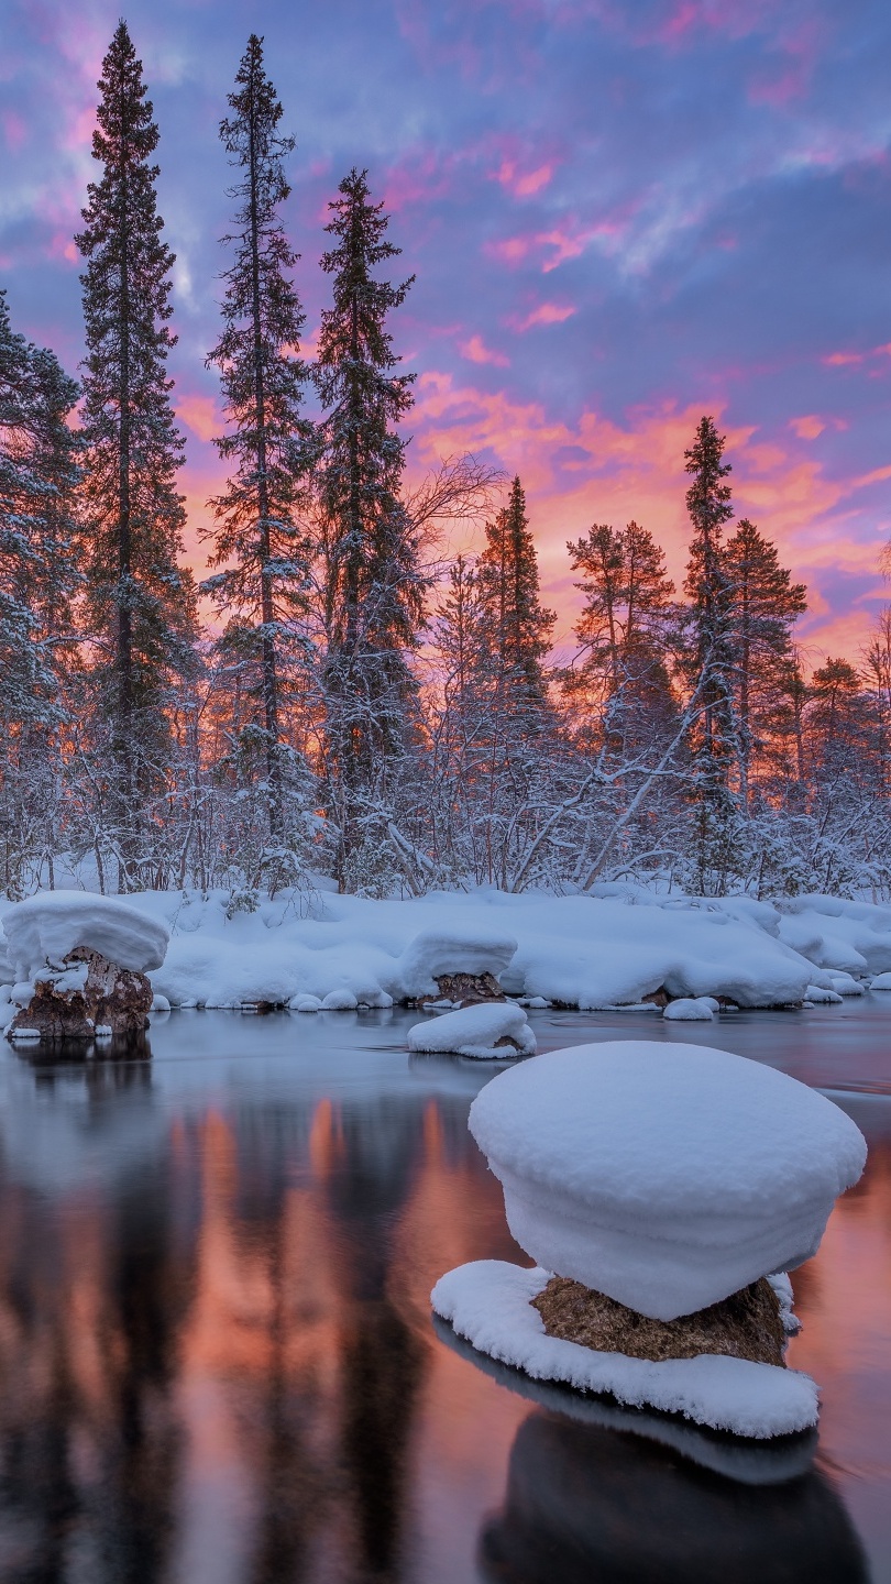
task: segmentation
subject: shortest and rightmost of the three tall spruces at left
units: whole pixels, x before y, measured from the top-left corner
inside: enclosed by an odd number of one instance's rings
[[[388,222],[384,206],[371,203],[366,174],[350,171],[330,204],[327,231],[336,246],[322,268],[333,276],[333,307],[322,315],[315,367],[327,409],[317,475],[327,562],[327,770],[342,885],[365,884],[360,870],[371,862],[412,730],[417,684],[409,656],[426,586],[400,494],[404,440],[395,429],[411,407],[414,375],[392,372],[400,358],[385,328],[414,276],[401,285],[373,276],[400,249],[385,241]]]

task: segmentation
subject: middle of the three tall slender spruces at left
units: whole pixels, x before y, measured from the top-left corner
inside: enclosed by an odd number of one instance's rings
[[[258,721],[244,727],[241,759],[262,751],[270,833],[282,838],[284,800],[300,775],[293,744],[282,741],[289,689],[306,681],[306,611],[311,546],[298,508],[312,461],[314,426],[301,415],[308,369],[298,355],[306,315],[292,284],[298,253],[285,238],[279,208],[290,193],[285,157],[295,139],[277,127],[282,106],[263,68],[263,40],[250,35],[228,95],[233,114],[220,122],[230,163],[241,173],[235,260],[225,271],[224,331],[208,363],[220,371],[231,431],[219,439],[235,464],[217,518],[205,583],[219,610],[235,623],[243,670]],[[254,787],[257,784],[254,779]],[[285,843],[287,846],[287,843]]]

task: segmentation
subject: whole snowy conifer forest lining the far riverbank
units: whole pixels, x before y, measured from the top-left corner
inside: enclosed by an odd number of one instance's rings
[[[683,584],[644,524],[591,523],[566,546],[576,654],[553,664],[522,478],[452,456],[406,483],[412,279],[363,169],[330,203],[330,306],[301,355],[282,116],[252,35],[220,122],[227,482],[201,583],[159,128],[124,22],[76,236],[79,379],[0,293],[5,893],[76,876],[222,889],[236,912],[325,874],[366,897],[636,879],[889,898],[891,607],[859,654],[807,670],[807,589],[769,524],[736,516],[704,415]],[[479,553],[452,553],[463,532]]]

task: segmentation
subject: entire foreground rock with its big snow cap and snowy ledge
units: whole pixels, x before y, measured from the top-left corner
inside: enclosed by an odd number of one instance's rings
[[[815,1422],[783,1272],[866,1163],[837,1106],[725,1050],[610,1041],[501,1074],[469,1126],[537,1262],[441,1278],[433,1307],[472,1346],[739,1435]]]

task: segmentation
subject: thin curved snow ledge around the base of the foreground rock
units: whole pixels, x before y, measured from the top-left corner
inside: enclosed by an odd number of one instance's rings
[[[480,1353],[534,1380],[607,1392],[628,1407],[680,1413],[696,1424],[756,1440],[791,1435],[816,1422],[816,1386],[797,1370],[715,1353],[652,1362],[549,1337],[531,1307],[547,1280],[541,1267],[523,1270],[501,1259],[480,1259],[441,1277],[431,1304]]]

